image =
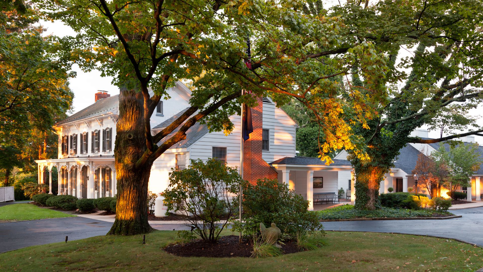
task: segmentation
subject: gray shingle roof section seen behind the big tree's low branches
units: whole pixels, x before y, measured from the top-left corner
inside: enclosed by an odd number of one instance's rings
[[[187,107],[184,110],[176,113],[173,117],[171,117],[171,118],[167,119],[166,121],[158,124],[153,129],[161,129],[161,128],[167,127],[174,120],[176,120],[183,113],[185,113],[185,111],[188,108],[189,107]],[[197,112],[195,112],[194,114],[196,114],[196,113]],[[164,137],[163,139],[168,139],[174,133],[178,132],[178,130],[179,130],[180,127],[181,127],[181,125],[179,127],[177,127],[173,132],[171,132],[168,136]],[[195,123],[192,127],[190,127],[186,131],[186,139],[177,142],[176,144],[174,144],[173,146],[171,146],[170,149],[187,148],[190,145],[192,145],[193,143],[195,143],[196,141],[198,141],[199,138],[201,138],[202,136],[206,135],[208,132],[209,132],[209,129],[208,129],[208,126],[206,124]],[[161,145],[161,143],[163,142],[163,139],[161,139],[161,141],[159,141],[158,145]]]

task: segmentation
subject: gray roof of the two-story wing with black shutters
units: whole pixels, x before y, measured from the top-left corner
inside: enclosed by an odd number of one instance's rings
[[[88,117],[95,117],[108,112],[117,112],[119,106],[119,94],[100,99],[91,106],[85,107],[78,112],[72,114],[62,121],[58,121],[55,125],[68,123],[71,121],[81,120]]]

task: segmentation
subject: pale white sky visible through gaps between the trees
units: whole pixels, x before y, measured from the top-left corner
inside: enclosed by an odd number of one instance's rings
[[[63,37],[68,35],[75,35],[75,31],[72,30],[70,27],[64,25],[62,22],[59,21],[42,21],[41,24],[47,30],[44,34],[55,34],[57,36]],[[71,114],[85,108],[94,103],[94,94],[97,91],[107,91],[111,95],[116,95],[119,93],[119,89],[111,84],[112,77],[102,77],[100,76],[100,72],[95,70],[92,72],[85,73],[83,72],[78,66],[74,66],[73,70],[77,72],[77,76],[75,78],[71,78],[70,87],[74,93],[73,98],[73,108]],[[475,109],[470,110],[470,115],[472,116],[480,116],[477,123],[483,126],[483,104],[478,106]],[[427,128],[423,126],[422,128]],[[467,131],[456,131],[456,133],[465,133]],[[449,134],[443,134],[443,136],[448,136]],[[429,132],[430,138],[438,138],[440,136],[439,131],[431,131]],[[475,141],[478,142],[480,145],[483,145],[483,136],[475,136]]]

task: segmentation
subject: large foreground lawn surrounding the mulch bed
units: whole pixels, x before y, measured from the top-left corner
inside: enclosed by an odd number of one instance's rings
[[[255,258],[177,257],[162,247],[174,231],[98,236],[0,254],[0,271],[475,271],[483,249],[414,235],[327,232],[318,250]],[[229,234],[226,232],[225,234]]]

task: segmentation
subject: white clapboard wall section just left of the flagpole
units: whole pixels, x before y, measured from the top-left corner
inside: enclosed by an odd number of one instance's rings
[[[190,159],[207,160],[213,156],[213,147],[226,147],[227,166],[240,167],[240,116],[233,115],[230,120],[235,125],[231,134],[207,133],[188,148]]]

